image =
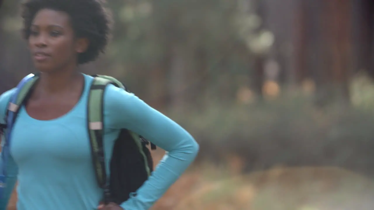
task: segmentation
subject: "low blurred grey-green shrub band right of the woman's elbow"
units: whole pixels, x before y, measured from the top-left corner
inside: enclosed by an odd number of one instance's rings
[[[315,108],[307,98],[222,106],[172,115],[200,142],[200,160],[243,158],[244,170],[328,165],[371,170],[374,115],[358,108]]]

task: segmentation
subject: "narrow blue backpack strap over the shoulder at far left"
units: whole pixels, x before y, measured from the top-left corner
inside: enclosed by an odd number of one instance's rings
[[[22,90],[22,87],[31,79],[34,77],[34,74],[29,74],[26,77],[24,77],[21,82],[16,87],[16,90],[14,94],[10,97],[10,103],[17,105],[17,98],[19,92]],[[8,107],[11,107],[10,105]],[[15,115],[17,114],[16,112],[18,111],[18,107],[16,108],[17,110],[10,110],[8,109],[8,115],[6,118],[6,123],[7,123],[7,128],[5,132],[5,141],[4,141],[4,146],[1,149],[1,168],[0,168],[0,198],[4,197],[4,188],[6,187],[6,177],[7,177],[7,168],[8,168],[8,161],[9,161],[9,156],[10,156],[10,139],[12,137],[12,129],[13,129],[13,119]]]

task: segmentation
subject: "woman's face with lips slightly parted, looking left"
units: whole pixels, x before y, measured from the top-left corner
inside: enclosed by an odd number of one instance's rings
[[[28,44],[35,67],[42,72],[62,70],[77,64],[82,42],[74,37],[70,17],[65,12],[40,10],[30,27]]]

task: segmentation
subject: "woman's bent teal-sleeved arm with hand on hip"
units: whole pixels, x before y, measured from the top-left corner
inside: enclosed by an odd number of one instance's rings
[[[125,90],[110,85],[104,100],[108,127],[132,130],[167,151],[136,196],[121,204],[125,210],[147,210],[190,166],[199,145],[180,125]]]

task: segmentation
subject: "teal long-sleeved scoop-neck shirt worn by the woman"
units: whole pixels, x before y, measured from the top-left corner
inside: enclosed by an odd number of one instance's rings
[[[5,210],[18,180],[18,210],[92,210],[102,189],[92,166],[86,128],[86,106],[93,77],[85,75],[80,101],[67,114],[47,121],[30,117],[21,107],[12,133]],[[0,96],[0,123],[14,89]],[[187,169],[199,150],[193,137],[177,123],[137,96],[113,85],[104,96],[104,149],[107,172],[120,129],[126,128],[167,151],[136,196],[121,204],[125,210],[149,209]]]

